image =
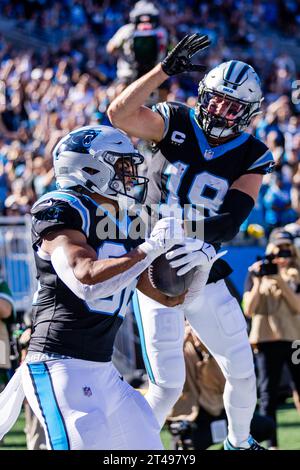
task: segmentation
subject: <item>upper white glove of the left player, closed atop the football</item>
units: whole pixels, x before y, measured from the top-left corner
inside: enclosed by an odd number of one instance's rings
[[[156,222],[149,238],[139,248],[153,260],[166,253],[175,244],[182,244],[184,229],[182,221],[175,217],[165,217]]]

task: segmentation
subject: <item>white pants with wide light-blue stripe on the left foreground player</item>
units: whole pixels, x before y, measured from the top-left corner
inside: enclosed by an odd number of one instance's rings
[[[23,387],[49,450],[163,449],[151,408],[111,362],[31,362]]]

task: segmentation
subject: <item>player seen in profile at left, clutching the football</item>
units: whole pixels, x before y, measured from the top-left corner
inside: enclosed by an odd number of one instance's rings
[[[151,408],[111,362],[140,274],[183,233],[175,218],[157,222],[146,241],[123,233],[120,198],[145,198],[142,162],[129,138],[108,126],[77,129],[57,144],[59,189],[32,208],[39,288],[27,361],[0,397],[0,435],[17,418],[23,387],[48,449],[162,448]],[[108,237],[104,222],[115,229]]]

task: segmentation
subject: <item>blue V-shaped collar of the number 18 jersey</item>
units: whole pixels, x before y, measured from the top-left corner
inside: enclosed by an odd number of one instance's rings
[[[243,132],[230,142],[218,145],[217,147],[211,147],[207,142],[205,134],[198,123],[194,109],[190,110],[190,120],[193,125],[194,132],[198,140],[199,147],[201,149],[201,153],[205,160],[214,160],[215,158],[221,157],[229,150],[233,150],[234,148],[242,145],[250,137],[250,134],[248,134],[247,132]]]

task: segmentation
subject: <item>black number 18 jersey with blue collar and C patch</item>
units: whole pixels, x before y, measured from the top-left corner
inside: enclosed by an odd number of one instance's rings
[[[274,164],[266,145],[246,132],[212,147],[194,109],[181,103],[159,103],[153,109],[163,117],[165,133],[149,169],[149,204],[191,204],[216,215],[235,180],[265,174]]]

